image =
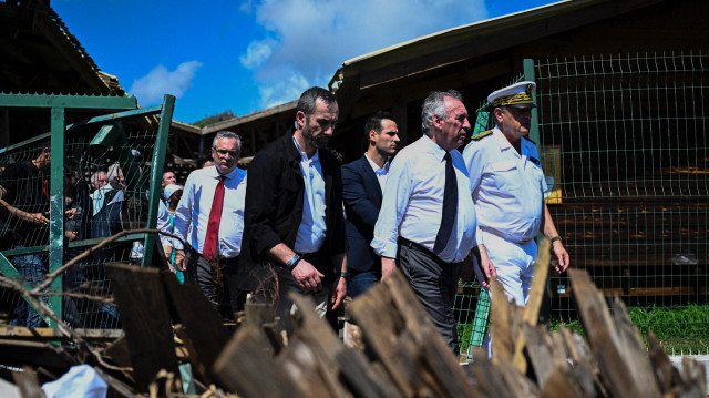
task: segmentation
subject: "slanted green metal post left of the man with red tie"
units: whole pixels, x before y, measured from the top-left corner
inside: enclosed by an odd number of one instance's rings
[[[175,110],[175,98],[165,95],[163,100],[163,110],[160,114],[160,127],[157,130],[157,142],[153,151],[153,164],[151,165],[151,186],[147,210],[147,227],[155,228],[157,226],[158,201],[161,196],[161,183],[163,181],[163,165],[165,164],[165,152],[167,150],[167,137],[169,134],[169,125],[173,120],[173,111]],[[147,234],[143,247],[142,266],[147,267],[153,261],[153,252],[155,248],[155,234]]]

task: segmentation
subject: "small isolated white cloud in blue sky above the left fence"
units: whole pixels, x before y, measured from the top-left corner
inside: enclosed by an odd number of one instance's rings
[[[143,78],[136,79],[129,92],[138,99],[141,105],[158,103],[164,94],[181,98],[192,86],[192,79],[199,67],[202,62],[188,61],[171,72],[165,67],[157,65]]]

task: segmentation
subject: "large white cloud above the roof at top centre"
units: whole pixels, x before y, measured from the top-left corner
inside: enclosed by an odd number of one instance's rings
[[[255,70],[263,106],[295,91],[288,90],[292,76],[325,86],[342,61],[487,17],[483,0],[248,0],[242,6],[266,30],[242,55]],[[259,47],[265,44],[269,57]]]

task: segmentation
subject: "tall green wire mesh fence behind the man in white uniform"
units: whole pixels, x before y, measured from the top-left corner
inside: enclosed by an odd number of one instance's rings
[[[536,61],[549,211],[575,267],[669,353],[707,353],[709,55]],[[565,276],[553,316],[573,322]]]

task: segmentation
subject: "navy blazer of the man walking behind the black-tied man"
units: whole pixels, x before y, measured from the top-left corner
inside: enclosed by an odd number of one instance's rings
[[[345,211],[347,213],[348,268],[381,273],[381,258],[369,244],[374,237],[382,192],[366,155],[342,166]]]

